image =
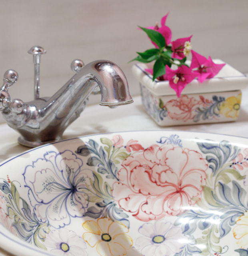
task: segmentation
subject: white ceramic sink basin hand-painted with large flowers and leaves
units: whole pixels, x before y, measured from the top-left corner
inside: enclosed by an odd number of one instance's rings
[[[40,255],[248,255],[248,139],[84,136],[0,165],[0,248]]]

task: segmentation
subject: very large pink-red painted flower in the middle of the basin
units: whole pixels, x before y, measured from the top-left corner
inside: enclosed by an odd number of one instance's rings
[[[122,162],[112,195],[120,208],[142,221],[185,211],[201,198],[208,162],[188,148],[156,144]]]

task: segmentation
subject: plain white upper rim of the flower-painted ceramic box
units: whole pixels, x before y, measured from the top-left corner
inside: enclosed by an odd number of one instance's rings
[[[216,76],[206,79],[203,83],[194,79],[186,85],[182,95],[242,90],[248,86],[248,77],[246,75],[220,59],[213,61],[216,64],[225,63],[226,65]],[[159,81],[157,79],[152,81],[152,75],[145,71],[146,68],[152,68],[151,64],[138,63],[132,66],[132,73],[140,83],[157,96],[176,95],[176,92],[170,88],[168,81]]]

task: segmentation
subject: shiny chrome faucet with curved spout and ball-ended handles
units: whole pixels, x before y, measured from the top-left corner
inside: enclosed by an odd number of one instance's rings
[[[87,65],[81,60],[71,64],[76,72],[51,98],[40,98],[40,57],[46,51],[40,46],[32,47],[34,61],[34,100],[23,102],[11,99],[8,89],[18,80],[18,73],[7,70],[0,89],[0,110],[7,124],[18,131],[18,142],[36,147],[62,140],[64,130],[84,110],[88,96],[100,87],[102,106],[118,106],[133,102],[126,76],[113,62],[96,60]]]

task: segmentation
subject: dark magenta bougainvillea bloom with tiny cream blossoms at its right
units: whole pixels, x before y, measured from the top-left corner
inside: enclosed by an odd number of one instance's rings
[[[179,38],[173,42],[171,42],[172,47],[172,58],[177,58],[178,60],[182,60],[190,54],[191,43],[190,39],[192,36]]]

